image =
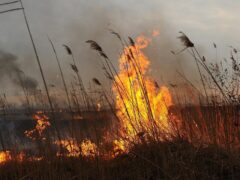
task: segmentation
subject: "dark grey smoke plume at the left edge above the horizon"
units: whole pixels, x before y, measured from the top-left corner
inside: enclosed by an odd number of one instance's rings
[[[8,77],[13,84],[21,88],[35,90],[38,82],[21,70],[17,60],[15,55],[0,50],[0,81]]]

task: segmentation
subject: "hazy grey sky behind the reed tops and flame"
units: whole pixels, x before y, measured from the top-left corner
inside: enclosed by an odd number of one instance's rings
[[[99,57],[86,40],[97,41],[117,66],[120,43],[108,29],[133,38],[142,34],[150,36],[153,30],[159,30],[160,35],[145,53],[151,59],[152,76],[162,82],[175,81],[179,68],[191,80],[198,79],[196,67],[186,54],[175,57],[170,53],[181,49],[177,39],[179,31],[184,31],[210,60],[216,55],[213,42],[218,46],[220,58],[229,57],[230,45],[240,46],[240,1],[237,0],[23,0],[23,4],[47,82],[56,86],[61,86],[61,80],[47,36],[56,46],[69,81],[71,58],[62,44],[72,48],[86,86],[93,77],[104,81]],[[0,10],[16,7],[19,4]],[[19,68],[42,87],[22,12],[0,14],[0,24],[1,52],[16,56]],[[0,62],[0,67],[4,67],[4,61]],[[1,76],[4,78],[0,78],[0,92],[17,95],[19,88],[12,86],[8,73],[4,71]]]

